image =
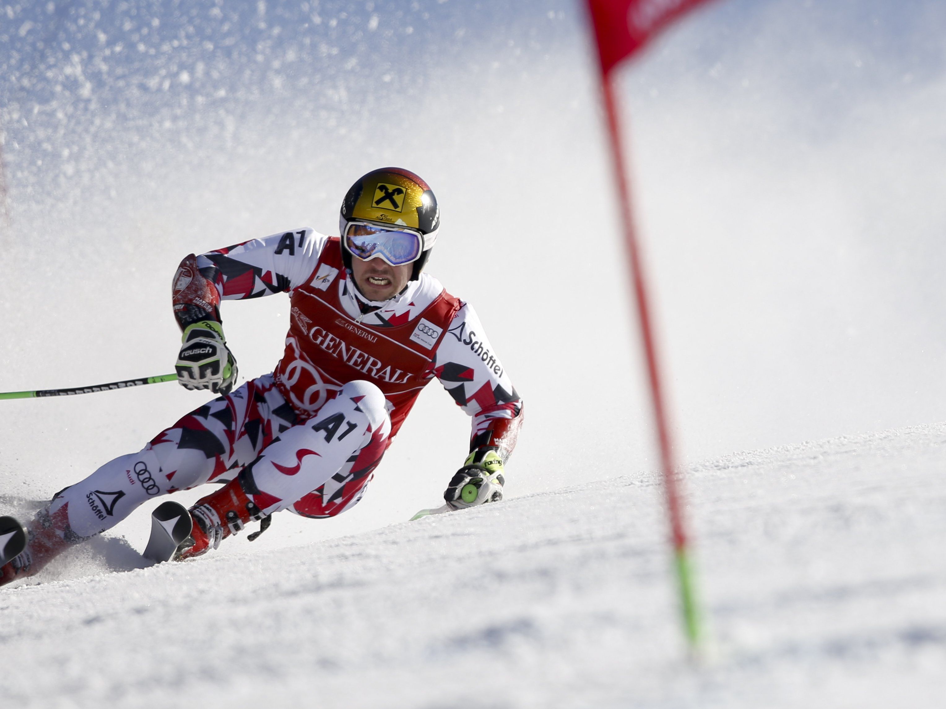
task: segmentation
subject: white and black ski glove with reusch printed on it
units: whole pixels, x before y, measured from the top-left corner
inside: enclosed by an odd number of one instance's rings
[[[181,386],[229,394],[236,382],[236,359],[220,323],[201,320],[188,325],[181,340],[184,344],[174,366]]]

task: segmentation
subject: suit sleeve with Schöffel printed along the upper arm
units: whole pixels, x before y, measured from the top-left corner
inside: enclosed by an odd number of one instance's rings
[[[522,400],[469,303],[457,311],[434,355],[434,373],[473,417],[470,451],[493,448],[505,460],[516,446]]]

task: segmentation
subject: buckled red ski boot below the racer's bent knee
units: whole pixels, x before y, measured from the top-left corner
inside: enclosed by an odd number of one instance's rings
[[[190,510],[194,528],[190,539],[178,547],[174,561],[199,557],[211,547],[217,548],[220,542],[231,534],[236,534],[252,520],[260,520],[259,531],[250,535],[252,542],[270,526],[270,517],[264,517],[234,478],[216,493],[201,497]],[[191,545],[190,542],[193,541]]]

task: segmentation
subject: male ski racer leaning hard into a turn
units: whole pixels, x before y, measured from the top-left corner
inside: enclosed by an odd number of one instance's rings
[[[231,479],[189,510],[193,530],[175,559],[217,548],[252,520],[265,528],[279,510],[339,514],[359,501],[433,377],[473,417],[447,505],[501,499],[522,404],[473,308],[422,272],[439,225],[428,184],[388,167],[348,191],[341,237],[299,229],[184,258],[173,282],[184,331],[178,377],[219,398],[57,493],[28,525],[26,550],[0,569],[0,585],[35,574],[152,497],[218,478]],[[220,301],[283,292],[283,358],[231,390],[236,359]]]

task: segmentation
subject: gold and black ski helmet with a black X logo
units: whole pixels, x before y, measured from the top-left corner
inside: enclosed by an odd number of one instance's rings
[[[352,255],[345,244],[345,232],[352,221],[366,221],[387,227],[401,226],[420,233],[423,248],[413,262],[411,280],[420,278],[440,228],[437,198],[429,184],[410,170],[382,167],[362,176],[342,200],[339,232],[342,235],[342,262],[352,268]]]

